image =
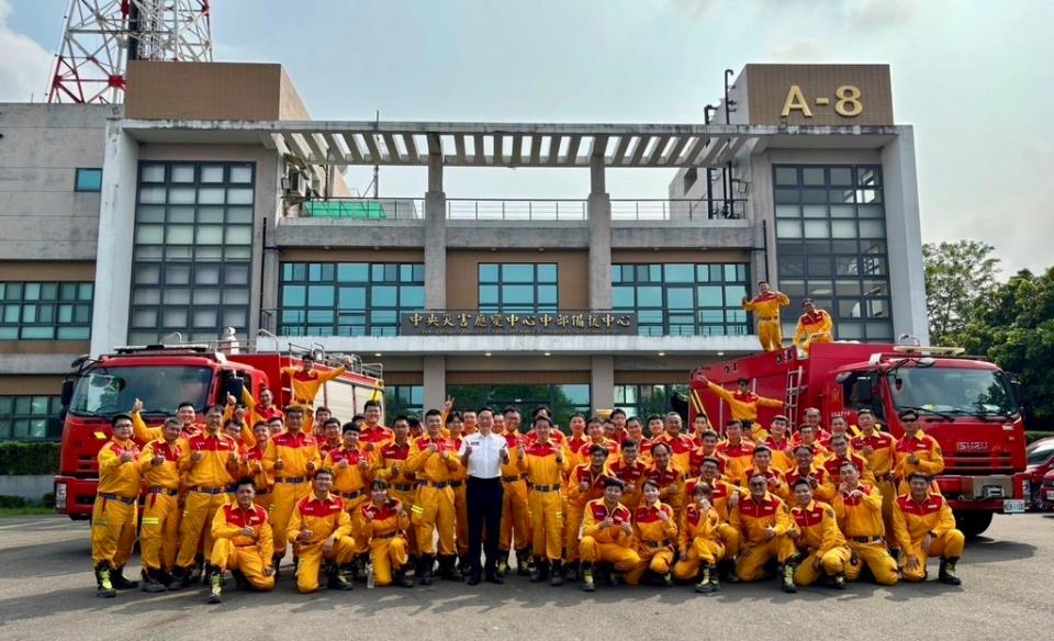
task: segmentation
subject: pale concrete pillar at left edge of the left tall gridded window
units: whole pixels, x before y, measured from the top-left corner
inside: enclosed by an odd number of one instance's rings
[[[127,345],[138,162],[138,143],[124,133],[119,119],[108,121],[91,313],[92,356]]]

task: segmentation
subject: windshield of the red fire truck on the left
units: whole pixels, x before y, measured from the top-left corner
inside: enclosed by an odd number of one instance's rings
[[[203,411],[212,371],[191,367],[99,368],[77,383],[70,414],[109,416],[132,409],[136,398],[146,414],[176,414],[180,403]]]

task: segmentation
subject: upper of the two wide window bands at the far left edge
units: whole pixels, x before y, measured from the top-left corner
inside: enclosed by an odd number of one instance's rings
[[[0,282],[0,340],[88,340],[91,282]]]

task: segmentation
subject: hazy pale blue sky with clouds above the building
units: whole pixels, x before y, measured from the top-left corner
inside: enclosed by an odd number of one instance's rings
[[[40,99],[66,4],[0,0],[0,100]],[[1054,262],[1051,24],[1043,0],[213,0],[216,59],[283,64],[315,119],[702,122],[726,67],[888,63],[923,239],[991,243],[1003,275]],[[662,198],[670,178],[621,170],[608,187]],[[587,182],[447,172],[462,198],[582,198]],[[381,185],[418,195],[425,178],[383,170]]]

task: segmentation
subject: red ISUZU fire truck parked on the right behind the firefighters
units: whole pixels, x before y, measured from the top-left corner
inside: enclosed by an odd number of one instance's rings
[[[937,482],[964,533],[985,531],[997,513],[1024,511],[1030,487],[1018,387],[960,348],[831,342],[814,346],[808,358],[792,347],[700,368],[692,376],[689,420],[703,411],[719,427],[728,407],[698,374],[731,391],[747,379],[756,394],[784,401],[782,409],[759,408],[762,425],[776,414],[797,425],[806,407],[819,408],[823,425],[833,416],[854,425],[856,411],[866,407],[899,438],[897,414],[913,408],[943,450]]]

